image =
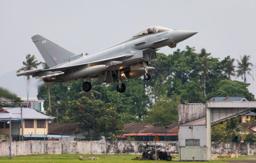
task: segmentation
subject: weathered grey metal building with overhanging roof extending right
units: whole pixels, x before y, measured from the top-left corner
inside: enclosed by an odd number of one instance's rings
[[[238,98],[178,105],[180,161],[211,161],[211,126],[256,110],[256,101]]]

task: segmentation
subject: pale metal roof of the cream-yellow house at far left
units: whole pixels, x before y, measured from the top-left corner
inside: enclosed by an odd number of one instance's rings
[[[9,113],[0,113],[1,119],[21,119],[21,108],[8,108],[4,107],[4,110],[7,110]],[[47,115],[37,112],[31,108],[22,108],[22,118],[23,119],[53,119]]]

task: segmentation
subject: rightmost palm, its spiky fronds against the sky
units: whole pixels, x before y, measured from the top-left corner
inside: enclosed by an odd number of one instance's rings
[[[241,76],[242,79],[244,79],[244,83],[246,83],[246,72],[247,72],[247,74],[252,76],[252,74],[250,73],[250,71],[252,69],[249,68],[250,66],[252,66],[252,63],[249,62],[249,59],[250,59],[250,56],[244,55],[243,58],[240,56],[241,62],[239,60],[237,60],[238,61],[238,66],[237,66],[238,67],[238,70],[237,70],[238,77]],[[253,76],[252,76],[252,78],[253,78]],[[254,78],[253,78],[253,80],[254,80]]]

